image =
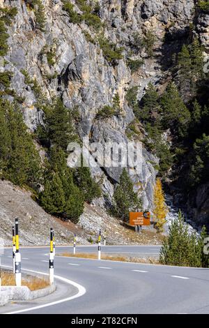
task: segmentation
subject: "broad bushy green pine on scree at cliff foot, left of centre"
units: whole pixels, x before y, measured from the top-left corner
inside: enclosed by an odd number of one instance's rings
[[[45,189],[40,194],[40,203],[47,212],[77,223],[84,211],[84,196],[75,186],[73,172],[67,166],[66,157],[60,147],[54,146],[50,149],[49,163],[45,172]],[[61,202],[57,197],[60,197]]]

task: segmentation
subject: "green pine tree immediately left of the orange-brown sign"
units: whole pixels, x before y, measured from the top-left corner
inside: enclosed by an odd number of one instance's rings
[[[133,188],[134,184],[127,170],[123,168],[119,184],[114,191],[113,209],[113,213],[123,221],[129,220],[130,211],[138,211],[142,207],[141,200],[137,197],[137,193],[134,193]]]

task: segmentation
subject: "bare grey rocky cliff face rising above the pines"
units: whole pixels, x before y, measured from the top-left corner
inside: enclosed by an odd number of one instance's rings
[[[169,61],[185,40],[185,30],[194,20],[192,0],[100,0],[99,16],[104,24],[104,36],[116,47],[123,47],[123,56],[110,63],[98,42],[98,32],[85,22],[69,21],[60,0],[43,0],[46,17],[45,31],[36,29],[36,17],[31,9],[32,1],[0,1],[1,6],[16,6],[18,13],[8,31],[9,51],[6,64],[1,71],[13,72],[11,88],[24,97],[22,110],[31,131],[42,122],[42,112],[36,107],[36,94],[26,84],[22,70],[36,78],[42,93],[50,100],[61,96],[63,103],[72,110],[78,108],[77,131],[80,137],[88,136],[90,142],[128,142],[125,129],[133,121],[134,114],[125,95],[134,86],[139,87],[138,99],[144,95],[149,82],[163,87],[167,79]],[[75,10],[80,9],[75,4]],[[137,35],[145,36],[148,31],[155,34],[154,56],[149,57],[146,49],[137,47]],[[199,33],[208,44],[208,17],[199,17]],[[169,36],[169,44],[164,36]],[[53,62],[47,53],[53,54]],[[127,57],[143,60],[144,64],[131,72]],[[120,114],[108,119],[96,119],[104,105],[112,105],[118,95]],[[89,151],[89,149],[86,149]],[[142,152],[141,172],[132,177],[135,188],[151,207],[153,184],[157,171],[157,158],[146,149]],[[118,181],[120,170],[110,170],[97,165],[93,174],[104,175],[103,191],[109,199]]]

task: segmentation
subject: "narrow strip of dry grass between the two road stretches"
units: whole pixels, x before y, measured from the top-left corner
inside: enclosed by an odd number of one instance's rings
[[[66,256],[68,258],[88,258],[91,260],[98,259],[98,255],[96,253],[60,253],[56,254],[57,256]],[[119,262],[134,262],[134,263],[149,263],[149,264],[160,264],[157,258],[137,258],[132,256],[120,256],[120,255],[107,255],[101,254],[101,260],[111,260],[111,261],[119,261]]]

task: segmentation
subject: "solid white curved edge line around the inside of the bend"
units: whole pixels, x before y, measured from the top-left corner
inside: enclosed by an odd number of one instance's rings
[[[9,266],[4,266],[4,267],[9,267]],[[34,272],[36,274],[43,274],[45,276],[49,276],[49,274],[46,274],[45,272],[39,272],[39,271],[28,270],[28,269],[23,269],[23,270],[24,271],[29,271],[29,272]],[[54,274],[54,278],[59,279],[59,280],[63,281],[64,283],[68,283],[69,285],[73,285],[79,291],[77,292],[77,294],[75,294],[73,296],[70,296],[70,297],[67,297],[65,299],[59,299],[59,301],[52,301],[51,303],[42,304],[42,305],[39,305],[39,306],[33,306],[32,308],[24,308],[23,310],[7,312],[7,313],[4,313],[4,314],[15,314],[15,313],[22,313],[22,312],[38,310],[38,308],[46,308],[47,306],[53,306],[53,305],[56,305],[56,304],[63,303],[65,301],[71,301],[72,299],[77,299],[77,297],[81,297],[84,294],[86,294],[86,288],[84,288],[84,286],[82,286],[82,285],[79,285],[79,283],[75,283],[75,281],[71,281],[71,280],[63,278],[61,276],[56,276],[55,274]]]

